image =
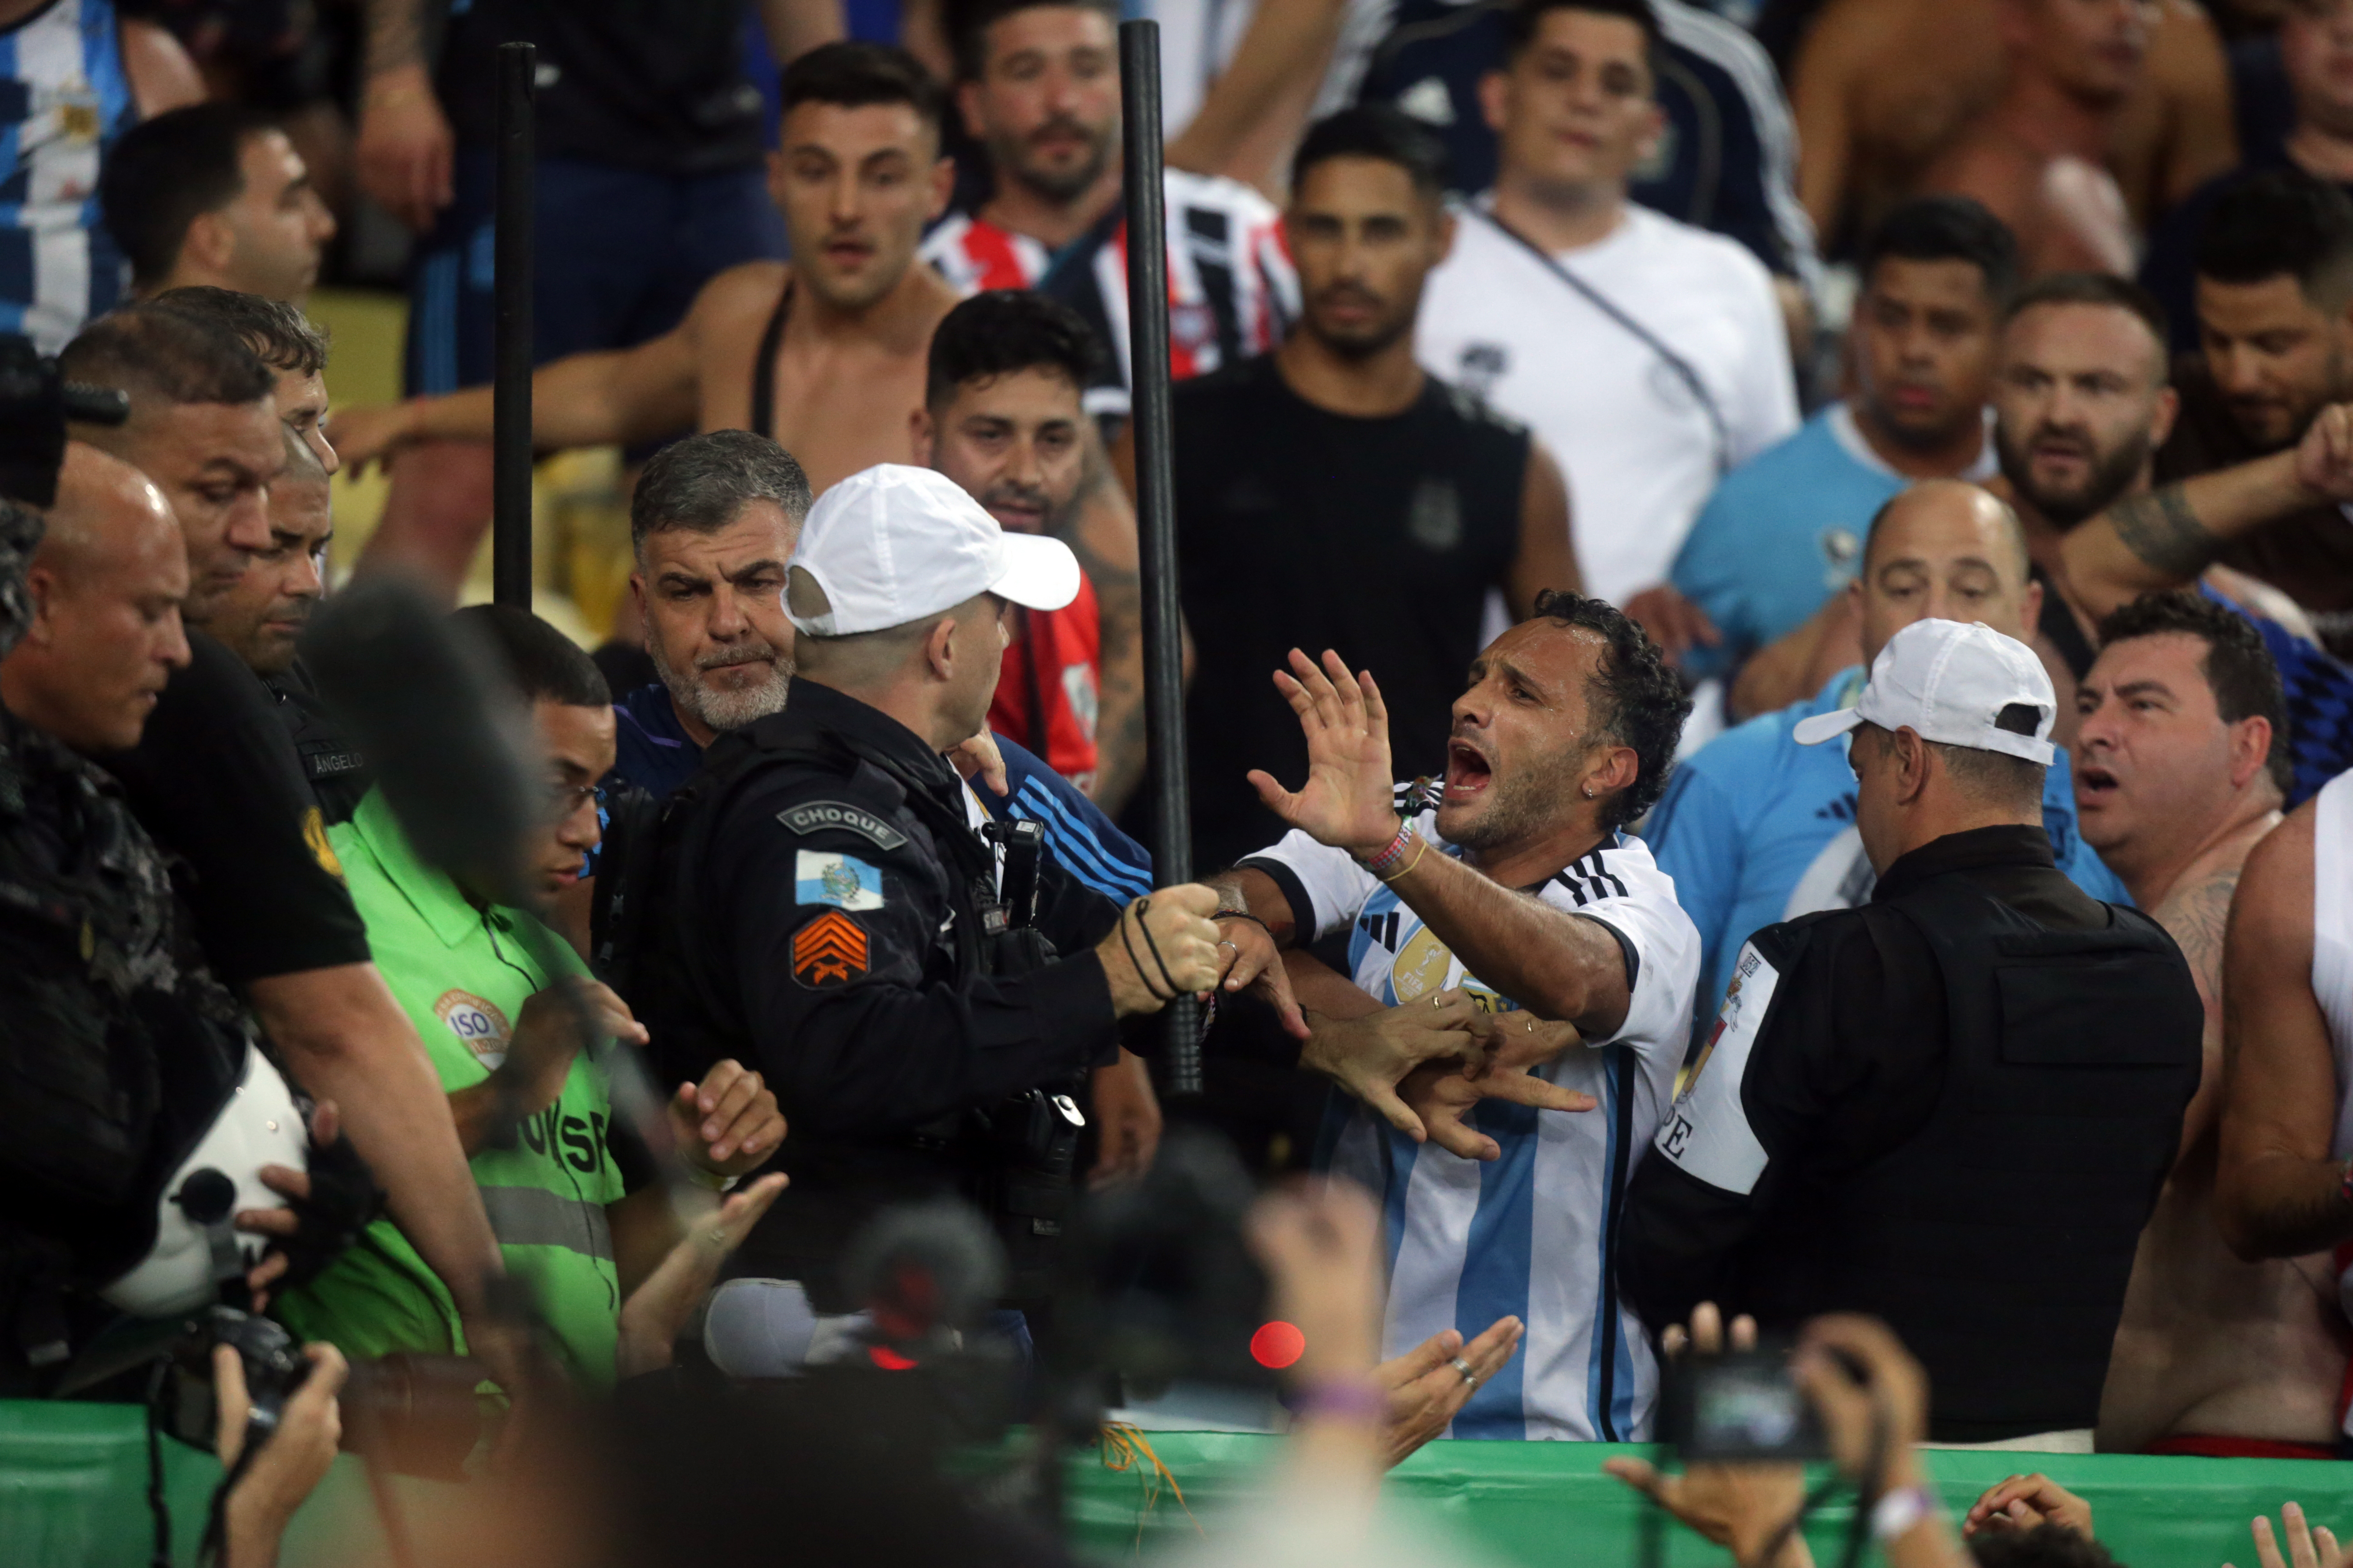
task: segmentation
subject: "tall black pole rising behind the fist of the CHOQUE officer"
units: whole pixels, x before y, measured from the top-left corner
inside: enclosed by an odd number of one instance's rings
[[[1136,437],[1136,534],[1144,555],[1144,726],[1153,764],[1153,877],[1193,879],[1193,790],[1184,748],[1184,654],[1176,618],[1176,480],[1169,451],[1169,247],[1160,162],[1160,24],[1120,24],[1127,197],[1129,430]],[[1191,997],[1162,1013],[1162,1093],[1200,1093],[1200,1023]]]

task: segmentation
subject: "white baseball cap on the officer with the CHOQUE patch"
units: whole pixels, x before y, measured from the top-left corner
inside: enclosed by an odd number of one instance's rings
[[[929,468],[875,463],[809,508],[791,569],[826,595],[826,614],[786,616],[812,637],[880,632],[993,592],[1028,609],[1078,597],[1078,557],[1059,538],[1007,534],[965,487]]]

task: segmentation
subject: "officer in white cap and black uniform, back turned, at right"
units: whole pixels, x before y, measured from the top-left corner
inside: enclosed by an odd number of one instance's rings
[[[2052,865],[2057,703],[2026,644],[1920,621],[1854,731],[1871,903],[1748,938],[1626,1199],[1654,1333],[1701,1300],[1795,1328],[1871,1312],[1927,1363],[1932,1436],[2080,1432],[2198,1088],[2172,938]]]

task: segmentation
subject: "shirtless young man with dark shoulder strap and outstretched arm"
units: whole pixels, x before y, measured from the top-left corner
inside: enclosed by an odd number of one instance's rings
[[[948,205],[939,89],[904,49],[824,45],[784,73],[769,193],[793,261],[748,261],[704,284],[675,329],[638,348],[555,360],[532,376],[541,449],[758,430],[816,491],[915,458],[932,329],[955,289],[915,266]],[[355,470],[421,440],[489,440],[492,393],[348,409],[336,449]]]

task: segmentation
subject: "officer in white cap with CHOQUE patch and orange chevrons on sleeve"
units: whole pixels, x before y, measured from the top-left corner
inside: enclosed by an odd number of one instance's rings
[[[793,1185],[739,1272],[802,1279],[878,1206],[962,1192],[1024,1276],[1061,1227],[1071,1091],[1120,1020],[1214,985],[1217,893],[1118,905],[988,823],[941,752],[988,717],[1009,604],[1078,559],[1005,534],[953,480],[878,465],[809,510],[786,574],[786,708],[727,731],[664,818],[671,867],[628,1001],[661,1070],[767,1074]]]

